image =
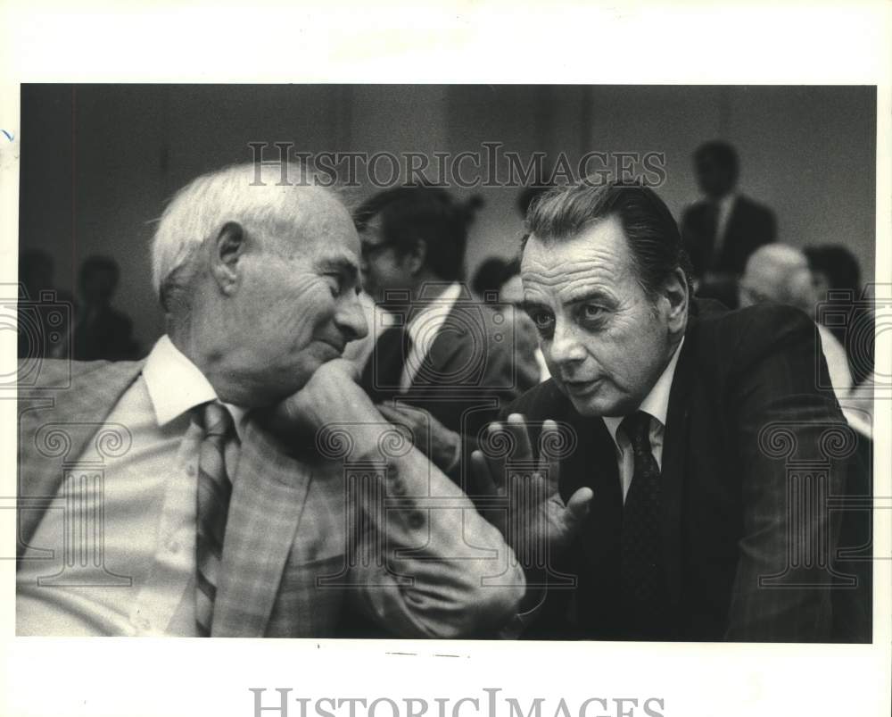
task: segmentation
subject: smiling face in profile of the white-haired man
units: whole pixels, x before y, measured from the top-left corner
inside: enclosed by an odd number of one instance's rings
[[[300,226],[282,222],[261,244],[244,258],[233,345],[243,354],[235,365],[266,405],[291,396],[367,326],[357,296],[359,238],[334,198],[314,200]]]

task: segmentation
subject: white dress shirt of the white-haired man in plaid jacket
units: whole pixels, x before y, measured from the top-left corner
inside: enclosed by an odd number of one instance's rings
[[[202,429],[189,412],[213,400],[217,395],[202,372],[168,337],[159,339],[141,375],[106,421],[128,430],[130,449],[106,459],[102,482],[85,482],[82,471],[73,471],[58,494],[78,513],[93,506],[103,509],[103,561],[78,570],[76,585],[38,584],[38,579],[62,571],[63,533],[70,528],[62,510],[47,510],[29,551],[50,549],[54,560],[21,562],[17,634],[195,634],[195,504]],[[241,435],[245,411],[227,408]],[[237,442],[230,441],[230,477],[237,460]]]

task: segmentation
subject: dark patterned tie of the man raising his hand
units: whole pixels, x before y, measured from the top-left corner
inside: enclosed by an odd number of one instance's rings
[[[648,413],[639,411],[626,416],[621,425],[632,442],[635,465],[623,508],[620,554],[622,604],[630,637],[658,637],[666,608],[660,564],[660,469],[650,450],[650,421]]]

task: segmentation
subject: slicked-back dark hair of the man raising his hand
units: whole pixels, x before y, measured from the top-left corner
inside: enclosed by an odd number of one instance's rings
[[[653,189],[616,181],[596,185],[583,179],[541,196],[526,224],[537,239],[560,241],[611,216],[623,225],[641,288],[651,299],[679,268],[691,286],[690,259],[681,245],[678,225]],[[528,238],[524,237],[524,246]]]

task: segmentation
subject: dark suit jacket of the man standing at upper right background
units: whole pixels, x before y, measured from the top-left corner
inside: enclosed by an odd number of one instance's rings
[[[772,211],[739,195],[725,227],[721,252],[714,257],[715,235],[711,213],[710,204],[698,202],[690,206],[681,219],[681,237],[690,255],[694,276],[703,276],[706,271],[742,274],[749,255],[776,238]]]

